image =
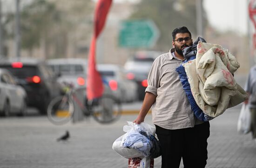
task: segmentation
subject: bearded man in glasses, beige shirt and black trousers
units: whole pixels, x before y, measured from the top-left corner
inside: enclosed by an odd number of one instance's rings
[[[209,122],[195,118],[175,68],[184,60],[182,50],[193,44],[187,27],[172,32],[172,48],[155,59],[136,124],[144,121],[150,107],[161,144],[162,168],[204,168],[207,160]]]

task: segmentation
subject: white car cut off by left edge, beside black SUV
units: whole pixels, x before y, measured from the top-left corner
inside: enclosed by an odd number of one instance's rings
[[[17,85],[13,75],[0,68],[0,114],[9,116],[12,113],[24,116],[27,111],[27,93]]]

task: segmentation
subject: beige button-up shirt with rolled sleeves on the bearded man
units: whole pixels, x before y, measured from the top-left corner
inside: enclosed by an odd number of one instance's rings
[[[174,49],[158,56],[148,75],[145,92],[156,96],[152,106],[153,123],[170,130],[194,127],[194,113],[175,71],[182,64],[182,60],[176,59],[171,52]]]

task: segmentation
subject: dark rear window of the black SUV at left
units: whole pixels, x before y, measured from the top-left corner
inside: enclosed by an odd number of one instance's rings
[[[1,66],[1,68],[8,69],[14,76],[19,79],[25,79],[28,76],[34,76],[37,74],[37,68],[34,66],[23,66],[22,68],[12,68],[11,66]]]

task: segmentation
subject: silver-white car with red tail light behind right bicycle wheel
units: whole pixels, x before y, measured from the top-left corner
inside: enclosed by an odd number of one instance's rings
[[[124,69],[114,64],[98,64],[97,69],[105,83],[121,102],[133,102],[137,100],[137,86],[134,81],[126,78]]]

